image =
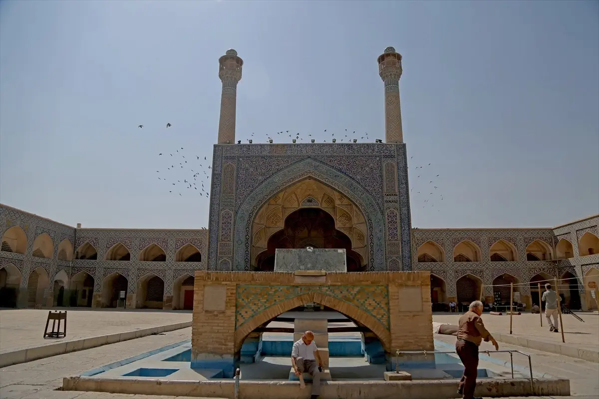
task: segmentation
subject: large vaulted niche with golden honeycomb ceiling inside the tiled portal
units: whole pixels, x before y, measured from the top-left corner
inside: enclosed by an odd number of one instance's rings
[[[345,248],[347,270],[367,269],[368,234],[364,214],[337,190],[313,178],[275,194],[252,224],[253,270],[274,268],[277,248]]]

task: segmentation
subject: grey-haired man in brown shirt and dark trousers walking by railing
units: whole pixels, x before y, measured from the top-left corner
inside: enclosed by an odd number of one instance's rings
[[[459,380],[458,395],[464,395],[464,399],[482,399],[474,397],[479,367],[479,346],[482,340],[491,341],[495,345],[495,351],[499,349],[497,341],[486,330],[480,318],[482,313],[483,303],[474,301],[458,322],[458,340],[455,343],[455,350],[464,364],[464,375]]]

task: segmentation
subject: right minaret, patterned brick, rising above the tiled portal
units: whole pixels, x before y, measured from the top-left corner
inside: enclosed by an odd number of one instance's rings
[[[400,77],[401,54],[395,48],[387,47],[379,56],[379,76],[385,82],[385,141],[404,141],[401,128]]]

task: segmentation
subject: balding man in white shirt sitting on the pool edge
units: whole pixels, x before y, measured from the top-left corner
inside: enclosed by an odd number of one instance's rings
[[[314,343],[312,331],[306,331],[301,339],[294,343],[294,348],[291,350],[291,364],[294,367],[295,375],[299,377],[300,388],[305,388],[303,373],[312,376],[311,399],[316,399],[320,395],[320,371],[318,368],[322,368],[322,360]]]

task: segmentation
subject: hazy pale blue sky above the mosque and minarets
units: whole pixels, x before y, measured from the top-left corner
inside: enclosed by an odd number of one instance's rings
[[[180,147],[210,161],[217,59],[244,59],[239,139],[374,139],[389,45],[404,57],[413,227],[599,211],[597,1],[1,2],[0,201],[73,226],[207,227],[208,199],[169,193],[156,170]],[[443,200],[423,202],[429,177]]]

